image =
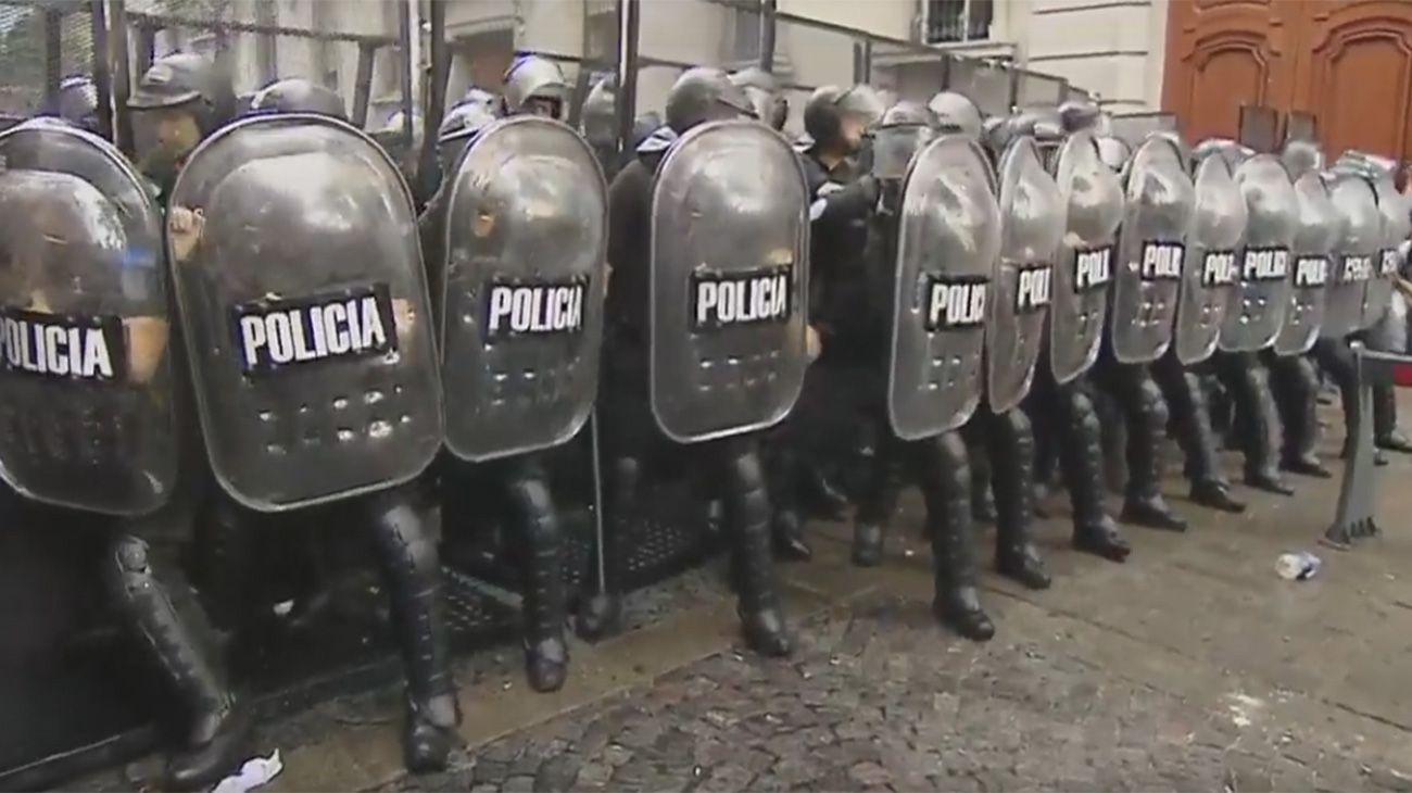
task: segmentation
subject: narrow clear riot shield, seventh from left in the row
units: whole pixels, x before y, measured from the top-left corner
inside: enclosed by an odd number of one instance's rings
[[[1099,158],[1089,130],[1069,135],[1055,174],[1067,202],[1067,233],[1055,264],[1049,365],[1055,381],[1065,384],[1099,357],[1113,281],[1113,243],[1123,223],[1123,185]]]

